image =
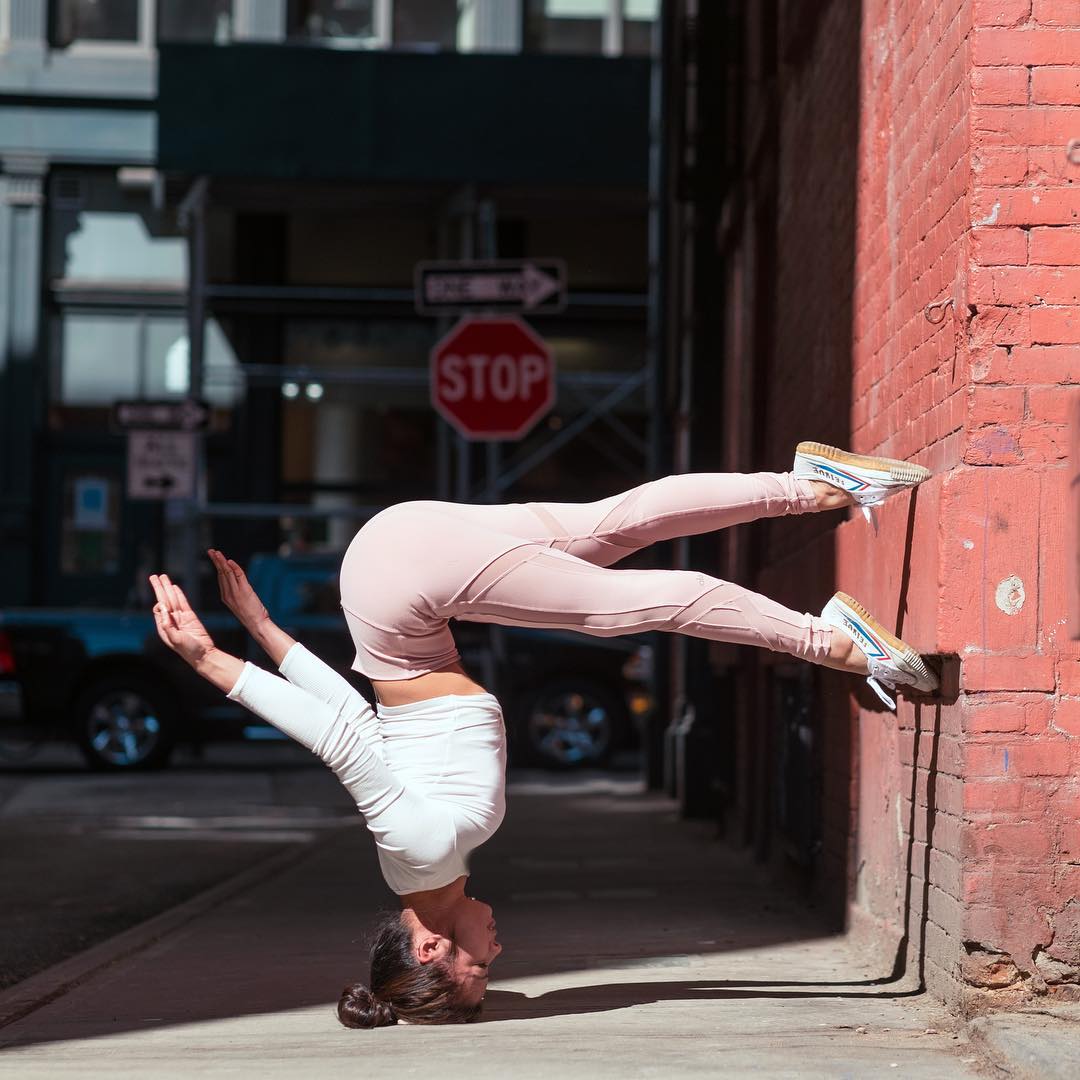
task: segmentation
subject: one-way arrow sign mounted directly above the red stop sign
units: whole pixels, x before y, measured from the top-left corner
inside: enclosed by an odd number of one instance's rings
[[[496,259],[488,262],[418,262],[416,310],[562,311],[566,264],[562,259]]]

